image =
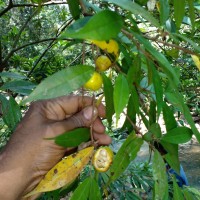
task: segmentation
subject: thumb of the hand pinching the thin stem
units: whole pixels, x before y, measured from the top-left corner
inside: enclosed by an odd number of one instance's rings
[[[54,124],[54,134],[58,135],[79,127],[90,127],[97,118],[98,110],[94,106],[85,107],[80,112]]]

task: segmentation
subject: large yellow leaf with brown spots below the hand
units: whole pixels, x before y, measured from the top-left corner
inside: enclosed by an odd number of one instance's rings
[[[45,175],[37,187],[26,194],[24,198],[37,193],[56,190],[71,183],[80,174],[84,166],[87,165],[93,151],[94,147],[88,147],[63,158]]]

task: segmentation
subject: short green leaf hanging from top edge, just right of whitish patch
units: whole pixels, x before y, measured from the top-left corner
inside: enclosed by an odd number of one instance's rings
[[[169,19],[170,7],[168,0],[159,0],[160,3],[160,22],[164,26]]]

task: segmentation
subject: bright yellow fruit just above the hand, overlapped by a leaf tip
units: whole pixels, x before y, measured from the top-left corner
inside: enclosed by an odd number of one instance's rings
[[[101,77],[101,74],[99,74],[98,72],[94,72],[89,81],[85,83],[84,87],[86,89],[96,91],[101,88],[102,84],[103,84],[103,79]]]

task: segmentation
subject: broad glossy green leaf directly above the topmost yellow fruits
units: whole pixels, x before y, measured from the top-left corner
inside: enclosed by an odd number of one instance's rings
[[[90,40],[109,40],[117,37],[123,25],[121,16],[104,10],[93,17],[84,17],[72,24],[61,36],[63,38],[77,38]],[[110,28],[112,27],[112,28]]]

